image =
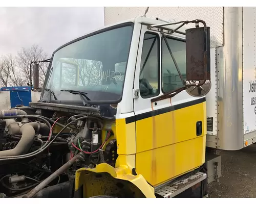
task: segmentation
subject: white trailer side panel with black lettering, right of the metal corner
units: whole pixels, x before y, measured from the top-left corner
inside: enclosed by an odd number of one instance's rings
[[[256,9],[243,7],[244,146],[256,141]],[[246,142],[247,141],[247,142]]]

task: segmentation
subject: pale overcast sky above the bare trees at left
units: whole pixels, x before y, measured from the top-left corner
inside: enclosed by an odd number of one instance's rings
[[[0,56],[38,44],[60,45],[104,26],[103,7],[0,7]]]

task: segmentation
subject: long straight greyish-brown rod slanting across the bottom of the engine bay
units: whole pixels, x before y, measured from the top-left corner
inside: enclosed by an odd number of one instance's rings
[[[63,166],[61,166],[59,169],[54,171],[49,177],[47,177],[44,181],[42,181],[40,184],[38,184],[35,188],[33,188],[31,191],[29,191],[23,197],[24,198],[33,197],[36,193],[38,193],[40,190],[42,190],[48,184],[50,184],[54,179],[56,179],[57,176],[62,174],[65,170],[69,169],[69,167],[72,166],[76,162],[77,159],[78,159],[78,155],[76,155],[71,160],[69,160],[67,163],[65,163]]]

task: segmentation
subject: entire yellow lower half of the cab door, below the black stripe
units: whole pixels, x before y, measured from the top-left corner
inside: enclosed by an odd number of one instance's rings
[[[205,98],[136,115],[136,169],[153,186],[204,163]],[[196,123],[202,122],[197,135]]]

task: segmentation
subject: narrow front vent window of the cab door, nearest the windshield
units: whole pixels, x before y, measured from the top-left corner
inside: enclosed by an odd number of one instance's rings
[[[144,35],[139,79],[142,98],[159,94],[159,41],[157,34]]]

